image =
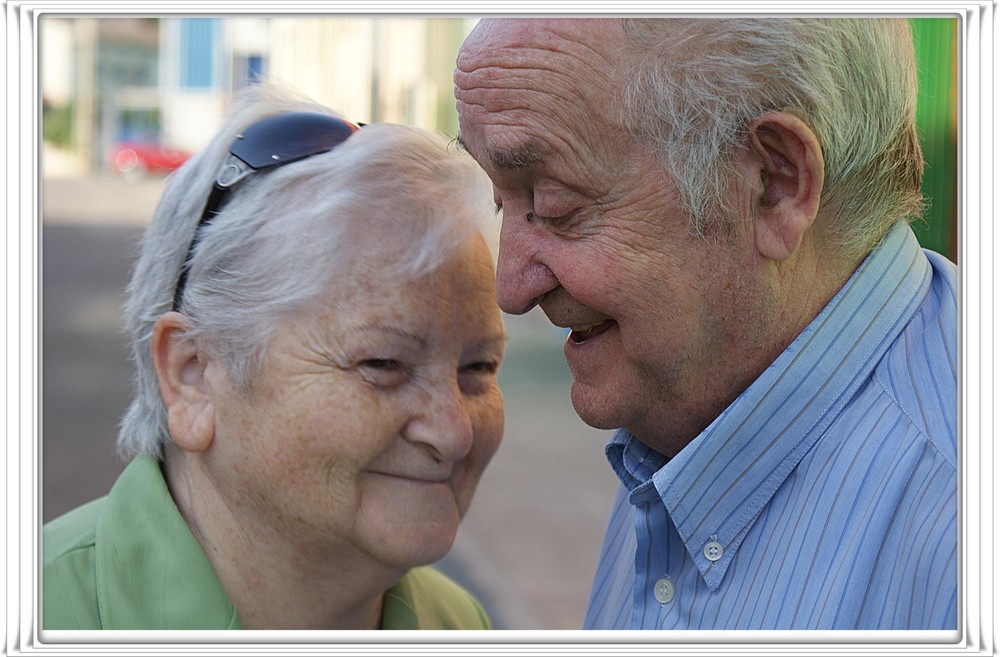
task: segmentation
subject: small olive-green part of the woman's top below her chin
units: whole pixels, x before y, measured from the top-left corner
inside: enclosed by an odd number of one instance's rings
[[[386,592],[383,629],[493,629],[482,603],[463,586],[424,566],[414,568]]]

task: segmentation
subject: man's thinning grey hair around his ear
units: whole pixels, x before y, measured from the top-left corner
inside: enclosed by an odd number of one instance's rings
[[[804,120],[823,149],[821,213],[846,258],[863,257],[899,218],[923,211],[916,66],[905,19],[625,19],[635,53],[626,128],[652,143],[704,234],[750,123],[773,110]]]

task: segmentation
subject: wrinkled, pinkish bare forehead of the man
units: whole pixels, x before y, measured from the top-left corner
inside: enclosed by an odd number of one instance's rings
[[[616,125],[616,36],[593,33],[609,25],[624,39],[620,19],[481,21],[455,70],[458,143],[498,175],[554,166],[567,144],[597,147],[586,138],[595,122],[606,134]]]

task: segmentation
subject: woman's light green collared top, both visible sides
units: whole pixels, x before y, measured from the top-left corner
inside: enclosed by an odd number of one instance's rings
[[[47,523],[42,555],[47,630],[241,628],[153,458],[132,461],[107,497]],[[423,567],[386,592],[382,628],[491,625],[468,591]]]

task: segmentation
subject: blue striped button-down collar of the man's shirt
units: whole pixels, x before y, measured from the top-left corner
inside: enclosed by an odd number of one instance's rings
[[[775,491],[916,311],[930,276],[913,231],[899,222],[774,363],[677,456],[668,461],[624,429],[612,435],[606,454],[633,503],[655,487],[713,591]],[[722,546],[716,561],[705,554],[711,541]]]

